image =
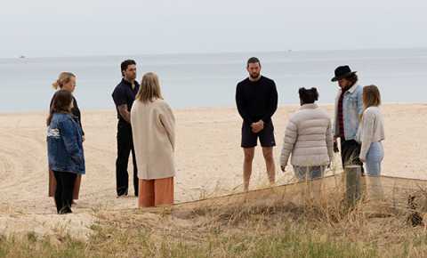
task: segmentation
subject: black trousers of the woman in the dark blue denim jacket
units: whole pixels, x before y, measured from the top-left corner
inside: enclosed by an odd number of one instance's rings
[[[58,214],[71,213],[77,173],[53,171],[56,179],[55,205]]]

